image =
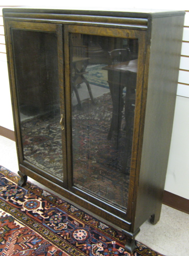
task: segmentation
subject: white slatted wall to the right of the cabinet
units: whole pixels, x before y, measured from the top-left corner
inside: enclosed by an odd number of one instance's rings
[[[188,3],[188,0],[185,1]],[[188,5],[188,4],[187,4]],[[180,58],[179,84],[169,155],[165,190],[189,199],[188,194],[188,113],[189,113],[189,11],[184,19],[183,43]],[[181,97],[180,97],[181,96]]]

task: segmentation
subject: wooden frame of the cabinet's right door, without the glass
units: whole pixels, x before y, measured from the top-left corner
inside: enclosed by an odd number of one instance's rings
[[[136,86],[136,106],[134,117],[134,132],[132,146],[132,161],[130,170],[130,186],[127,212],[110,206],[109,204],[94,198],[73,184],[72,165],[72,102],[70,89],[70,60],[69,60],[69,33],[79,33],[87,35],[113,36],[120,38],[138,39],[138,71]],[[144,72],[146,62],[146,41],[147,32],[125,28],[106,28],[97,26],[64,25],[64,57],[65,57],[65,96],[66,96],[66,124],[67,124],[67,168],[68,168],[68,189],[79,195],[84,200],[97,205],[106,211],[115,214],[119,218],[130,221],[135,212],[135,199],[137,194],[137,183],[140,169],[141,146],[143,137],[143,121],[146,106],[146,88],[144,88]],[[85,207],[85,205],[84,205]]]

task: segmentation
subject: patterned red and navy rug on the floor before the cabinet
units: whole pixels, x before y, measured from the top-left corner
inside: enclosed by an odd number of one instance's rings
[[[0,166],[2,256],[130,256],[124,235]],[[136,241],[133,256],[162,256]]]

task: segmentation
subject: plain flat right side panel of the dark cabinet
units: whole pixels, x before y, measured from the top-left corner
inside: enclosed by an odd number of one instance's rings
[[[174,118],[184,16],[152,19],[147,105],[134,229],[159,220]]]

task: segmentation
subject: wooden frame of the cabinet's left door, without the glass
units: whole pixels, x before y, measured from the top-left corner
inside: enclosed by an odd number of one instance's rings
[[[55,33],[57,35],[57,57],[58,57],[58,74],[59,74],[59,90],[60,90],[60,112],[65,119],[65,97],[64,97],[64,76],[63,76],[63,40],[62,40],[62,25],[61,24],[50,24],[50,23],[34,23],[34,22],[17,22],[17,21],[7,21],[6,30],[7,30],[7,56],[9,61],[9,80],[11,87],[11,98],[12,98],[12,107],[13,107],[13,116],[14,116],[14,127],[16,134],[16,145],[18,153],[18,163],[24,172],[24,168],[32,169],[36,173],[40,174],[44,178],[60,185],[64,188],[67,188],[67,163],[66,163],[66,131],[62,130],[62,155],[63,157],[63,182],[55,178],[50,173],[46,173],[45,170],[34,166],[32,163],[24,159],[23,156],[23,147],[21,140],[21,130],[20,130],[20,118],[18,110],[18,99],[16,93],[16,70],[14,69],[14,52],[13,52],[13,37],[12,29],[25,30],[25,31],[35,31],[35,32],[48,32]],[[61,117],[60,117],[61,118]],[[60,124],[57,124],[60,125]]]

